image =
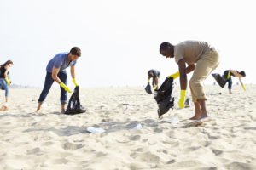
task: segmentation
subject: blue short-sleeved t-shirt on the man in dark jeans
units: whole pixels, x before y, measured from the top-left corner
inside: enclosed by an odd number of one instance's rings
[[[47,72],[52,72],[53,67],[55,68],[60,68],[61,71],[65,71],[65,69],[70,66],[70,65],[75,65],[77,63],[76,60],[74,61],[69,61],[68,60],[68,52],[67,53],[61,53],[61,54],[56,54],[53,59],[49,60],[49,63],[46,67]]]

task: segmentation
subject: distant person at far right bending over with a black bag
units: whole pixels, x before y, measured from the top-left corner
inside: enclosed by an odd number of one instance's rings
[[[216,74],[212,74],[213,77],[215,78]],[[231,77],[238,77],[239,82],[241,84],[241,87],[246,90],[245,85],[241,82],[242,77],[246,77],[245,71],[236,71],[236,70],[226,70],[223,73],[222,79],[216,79],[218,84],[224,88],[226,82],[228,82],[228,88],[229,88],[229,93],[232,94],[231,88],[232,88],[232,78]]]

